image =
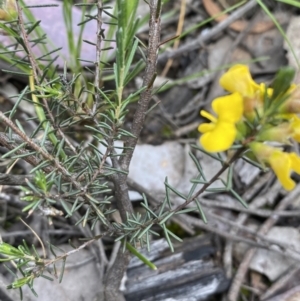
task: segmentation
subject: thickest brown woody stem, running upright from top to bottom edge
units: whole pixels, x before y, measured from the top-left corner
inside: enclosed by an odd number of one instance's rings
[[[155,79],[156,61],[157,61],[157,50],[159,47],[160,37],[160,12],[161,12],[161,1],[150,0],[150,21],[149,21],[149,46],[147,51],[147,64],[144,75],[143,86],[146,86],[146,90],[141,94],[140,100],[137,104],[137,109],[133,118],[133,125],[131,133],[135,136],[134,138],[129,137],[124,146],[126,152],[124,156],[120,157],[120,160],[113,161],[113,167],[121,168],[122,170],[128,171],[129,164],[133,155],[134,148],[137,144],[138,137],[143,128],[146,112],[151,100],[152,85]],[[117,206],[120,211],[122,221],[125,222],[133,213],[133,208],[128,194],[127,175],[117,174],[117,177],[113,178],[115,185],[115,197],[117,200]],[[121,301],[125,300],[120,291],[118,290],[124,272],[129,264],[130,254],[119,250],[119,254],[114,262],[113,266],[109,269],[105,282],[104,282],[104,293],[106,301]]]

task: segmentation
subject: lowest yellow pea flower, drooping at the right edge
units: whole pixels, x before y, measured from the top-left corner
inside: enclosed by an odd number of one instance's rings
[[[278,148],[259,142],[250,143],[249,146],[260,162],[267,163],[272,168],[286,190],[295,188],[291,173],[295,171],[300,174],[300,157],[296,153],[285,153]]]

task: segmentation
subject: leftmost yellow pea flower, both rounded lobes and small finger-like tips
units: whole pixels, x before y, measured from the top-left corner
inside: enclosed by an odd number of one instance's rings
[[[229,149],[237,136],[235,124],[243,115],[243,98],[239,93],[216,98],[212,102],[218,118],[202,110],[200,114],[211,123],[200,124],[198,130],[203,135],[200,143],[208,152],[221,152]]]

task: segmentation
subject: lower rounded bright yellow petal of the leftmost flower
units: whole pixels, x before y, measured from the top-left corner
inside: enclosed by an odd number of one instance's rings
[[[199,126],[199,128],[202,125]],[[202,128],[203,129],[203,128]],[[233,144],[237,130],[233,123],[218,121],[213,130],[204,132],[200,143],[208,152],[222,152]]]

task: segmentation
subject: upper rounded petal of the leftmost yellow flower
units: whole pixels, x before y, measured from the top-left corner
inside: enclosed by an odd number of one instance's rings
[[[243,98],[239,93],[218,97],[212,102],[212,108],[220,120],[236,123],[243,115]]]

